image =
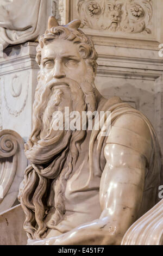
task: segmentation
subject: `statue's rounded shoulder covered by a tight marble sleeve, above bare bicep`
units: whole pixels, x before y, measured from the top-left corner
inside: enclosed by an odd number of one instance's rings
[[[106,139],[104,154],[112,150],[110,144],[116,144],[134,150],[145,156],[148,161],[153,151],[151,131],[141,114],[125,113],[116,118],[111,124],[111,130]]]

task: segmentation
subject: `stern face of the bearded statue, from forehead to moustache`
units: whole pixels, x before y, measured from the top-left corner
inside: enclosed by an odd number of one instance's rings
[[[86,75],[86,63],[80,56],[78,46],[68,40],[55,40],[41,51],[41,80],[70,78],[78,83]]]

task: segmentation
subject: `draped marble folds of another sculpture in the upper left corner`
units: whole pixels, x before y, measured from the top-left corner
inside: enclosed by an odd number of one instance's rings
[[[52,0],[12,0],[0,5],[0,45],[35,41],[45,32]]]

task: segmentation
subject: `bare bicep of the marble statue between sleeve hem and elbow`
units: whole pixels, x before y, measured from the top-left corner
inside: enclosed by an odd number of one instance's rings
[[[106,165],[100,185],[102,210],[116,214],[123,208],[138,209],[145,181],[145,157],[117,144],[107,144],[104,154]]]

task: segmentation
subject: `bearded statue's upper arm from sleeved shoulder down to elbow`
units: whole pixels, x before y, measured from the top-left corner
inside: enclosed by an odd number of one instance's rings
[[[125,114],[112,125],[104,155],[100,185],[102,216],[133,222],[139,211],[146,165],[152,154],[151,133],[145,121]],[[133,221],[132,221],[133,220]]]

